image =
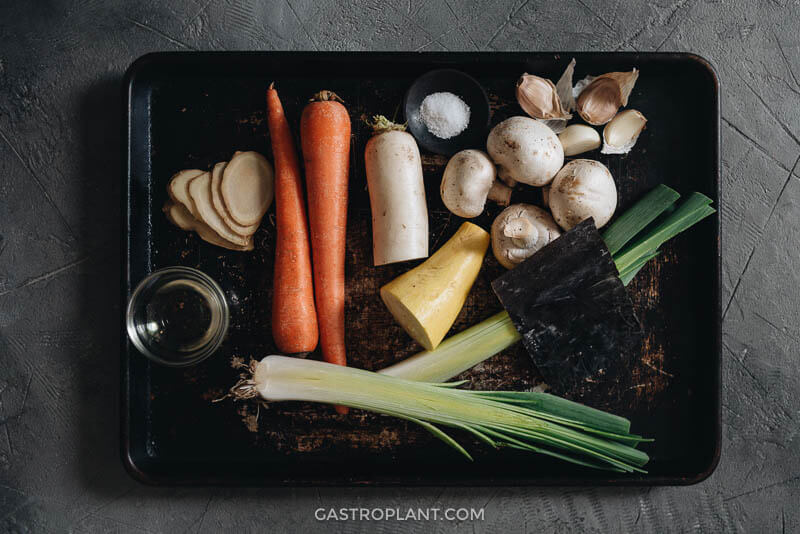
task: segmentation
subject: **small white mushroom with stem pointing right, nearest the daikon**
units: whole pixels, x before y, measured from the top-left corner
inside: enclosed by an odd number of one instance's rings
[[[439,188],[442,202],[459,217],[477,217],[489,198],[508,206],[511,188],[496,181],[497,171],[489,156],[480,150],[462,150],[444,169]]]

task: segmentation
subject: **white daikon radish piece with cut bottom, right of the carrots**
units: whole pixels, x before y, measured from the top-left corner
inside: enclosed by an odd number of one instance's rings
[[[364,150],[375,265],[428,257],[428,208],[417,142],[386,117]]]

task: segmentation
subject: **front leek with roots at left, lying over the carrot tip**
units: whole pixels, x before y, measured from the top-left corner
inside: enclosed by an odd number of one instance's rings
[[[419,424],[468,459],[437,426],[471,433],[492,447],[546,454],[588,467],[643,472],[649,460],[634,446],[629,422],[547,394],[455,389],[316,360],[267,356],[231,388],[235,399],[312,401],[349,406]],[[632,446],[633,445],[633,446]]]

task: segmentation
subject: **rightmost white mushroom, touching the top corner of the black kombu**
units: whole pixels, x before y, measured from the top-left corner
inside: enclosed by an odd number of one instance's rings
[[[553,179],[548,205],[564,230],[589,217],[602,228],[617,208],[617,187],[611,172],[599,161],[572,160]]]

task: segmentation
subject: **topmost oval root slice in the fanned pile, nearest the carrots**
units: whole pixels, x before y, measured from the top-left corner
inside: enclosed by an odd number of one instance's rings
[[[259,224],[272,203],[272,165],[258,152],[237,152],[225,167],[220,194],[231,218],[242,226]]]

